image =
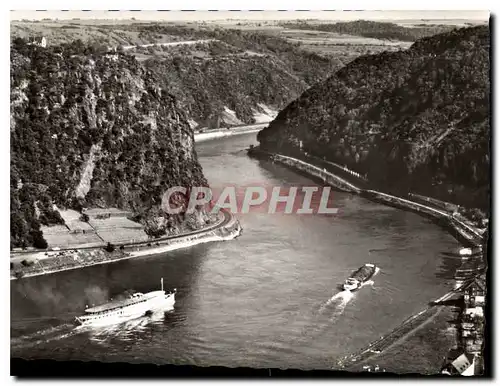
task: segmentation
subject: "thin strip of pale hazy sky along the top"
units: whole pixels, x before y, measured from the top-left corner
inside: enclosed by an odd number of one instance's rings
[[[29,19],[130,19],[138,20],[404,20],[404,19],[466,19],[487,20],[489,11],[11,11],[11,20]]]

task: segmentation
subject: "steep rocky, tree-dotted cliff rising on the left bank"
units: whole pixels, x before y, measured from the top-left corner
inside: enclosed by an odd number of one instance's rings
[[[161,212],[162,195],[206,180],[187,118],[157,77],[130,55],[14,42],[11,245],[44,246],[40,223],[62,222],[53,204],[130,209],[160,234],[186,220]]]

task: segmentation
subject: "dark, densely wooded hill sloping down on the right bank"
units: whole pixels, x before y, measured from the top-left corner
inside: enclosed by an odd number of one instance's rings
[[[377,188],[489,206],[486,26],[355,59],[305,91],[258,135],[282,153],[325,157]]]

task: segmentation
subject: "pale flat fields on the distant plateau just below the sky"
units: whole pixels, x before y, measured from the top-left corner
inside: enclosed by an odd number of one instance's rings
[[[95,42],[109,47],[117,46],[140,46],[152,43],[172,43],[185,40],[204,39],[203,31],[213,31],[215,28],[237,29],[244,32],[254,32],[269,36],[278,36],[292,44],[296,44],[301,50],[312,52],[321,56],[338,58],[345,63],[360,55],[377,54],[382,51],[397,51],[407,49],[411,41],[399,41],[394,39],[378,39],[364,37],[356,34],[336,33],[321,31],[318,28],[335,23],[334,20],[313,20],[308,24],[297,24],[300,28],[293,28],[295,24],[283,23],[282,21],[199,21],[199,22],[144,22],[135,20],[58,20],[40,22],[11,22],[11,37],[30,37],[44,35],[48,44],[60,44],[75,39],[84,42]],[[399,20],[392,21],[401,27],[449,28],[446,26],[467,26],[478,22],[467,20]],[[484,22],[483,22],[484,23]],[[158,25],[168,27],[163,32],[151,32],[144,27]],[[308,28],[310,26],[310,29]],[[441,26],[441,27],[439,27]],[[401,28],[396,27],[396,28]],[[214,56],[209,43],[200,45],[182,46],[152,46],[137,47],[129,52],[137,60],[146,61],[151,58],[168,59],[174,55],[191,56],[200,63],[213,60],[214,57],[241,57],[242,52],[224,52]],[[235,47],[228,47],[228,50]],[[215,50],[217,52],[217,50]],[[260,53],[248,53],[247,55],[262,55]]]

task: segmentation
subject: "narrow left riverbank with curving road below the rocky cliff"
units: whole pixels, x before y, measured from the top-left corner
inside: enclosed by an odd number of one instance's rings
[[[147,242],[128,243],[113,251],[101,247],[14,254],[19,256],[14,257],[17,260],[15,264],[11,259],[11,280],[156,255],[213,241],[232,240],[241,232],[238,220],[231,213],[221,211],[219,221],[205,229]]]

